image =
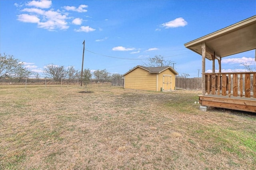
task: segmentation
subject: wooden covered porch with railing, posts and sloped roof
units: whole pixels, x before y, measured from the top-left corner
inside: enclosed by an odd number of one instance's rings
[[[256,49],[256,16],[190,41],[185,47],[202,55],[202,106],[256,113],[256,72],[221,72],[222,57]],[[256,53],[254,57],[256,61]],[[212,73],[205,72],[206,59],[212,61]]]

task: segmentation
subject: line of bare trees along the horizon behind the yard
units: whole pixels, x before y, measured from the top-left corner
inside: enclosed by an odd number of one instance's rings
[[[144,66],[170,66],[172,61],[165,60],[163,56],[156,55],[155,57],[149,58],[148,63],[144,63]],[[250,65],[246,65],[246,68],[250,68]],[[250,69],[249,69],[250,70]],[[92,72],[89,68],[83,70],[84,74],[82,81],[86,86],[94,77],[97,82],[104,83],[106,80],[111,78],[122,78],[122,74],[113,73],[111,74],[106,69],[95,70]],[[81,80],[81,71],[76,70],[74,66],[59,66],[56,64],[48,64],[44,67],[43,74],[45,78],[52,78],[55,82],[60,82],[62,79],[68,79],[70,83],[72,80]],[[18,81],[24,78],[29,78],[34,76],[39,79],[41,76],[38,72],[34,72],[24,67],[24,63],[19,59],[15,59],[13,55],[8,55],[6,53],[0,54],[0,80],[3,78],[16,78]],[[179,77],[188,77],[189,74],[181,73]]]

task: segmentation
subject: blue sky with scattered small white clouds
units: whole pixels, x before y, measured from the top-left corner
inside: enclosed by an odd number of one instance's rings
[[[197,77],[202,57],[184,43],[254,15],[255,0],[0,0],[0,53],[43,76],[48,64],[81,70],[85,40],[84,68],[92,71],[124,74],[161,55]],[[223,72],[256,67],[254,57],[225,57]]]

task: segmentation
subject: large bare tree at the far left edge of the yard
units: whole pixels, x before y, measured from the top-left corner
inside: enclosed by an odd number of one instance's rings
[[[15,77],[21,74],[20,72],[30,73],[23,66],[24,64],[18,59],[14,59],[13,55],[0,54],[0,80],[5,77]],[[29,76],[29,74],[24,74],[24,76]]]

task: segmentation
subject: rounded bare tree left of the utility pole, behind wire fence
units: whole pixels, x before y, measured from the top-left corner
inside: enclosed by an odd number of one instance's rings
[[[55,82],[60,82],[61,78],[66,77],[67,70],[64,66],[48,64],[44,68],[44,74],[54,79]]]

